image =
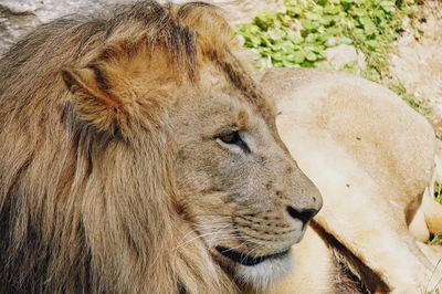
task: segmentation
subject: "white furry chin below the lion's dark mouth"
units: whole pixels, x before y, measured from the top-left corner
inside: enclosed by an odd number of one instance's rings
[[[241,284],[250,285],[259,292],[265,292],[293,270],[291,252],[267,259],[253,266],[236,264],[234,276]]]

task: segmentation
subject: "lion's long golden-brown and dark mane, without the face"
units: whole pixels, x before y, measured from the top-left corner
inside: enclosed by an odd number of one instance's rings
[[[231,40],[210,6],[147,1],[44,24],[1,59],[1,292],[235,291],[175,207],[170,101],[154,97],[137,111],[120,103],[99,112],[85,99],[73,102],[75,88],[66,88],[64,72],[138,61],[144,44],[149,61],[168,56],[166,69],[155,69],[165,78],[186,73],[197,80],[202,54],[244,84],[234,62],[222,61]],[[95,75],[102,91],[112,87],[98,70]],[[136,119],[119,116],[128,113]],[[141,128],[151,135],[143,141]],[[140,162],[146,150],[149,160]]]

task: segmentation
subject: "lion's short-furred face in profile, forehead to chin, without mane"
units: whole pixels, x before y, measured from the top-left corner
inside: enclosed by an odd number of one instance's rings
[[[322,197],[281,141],[271,107],[263,115],[221,73],[209,75],[172,112],[178,207],[230,274],[265,286],[291,269],[290,249]]]

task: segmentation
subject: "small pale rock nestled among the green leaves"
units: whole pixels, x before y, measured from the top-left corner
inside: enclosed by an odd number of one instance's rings
[[[365,55],[357,52],[351,45],[340,44],[325,51],[327,62],[335,69],[341,70],[346,64],[356,63],[364,71],[366,67]]]

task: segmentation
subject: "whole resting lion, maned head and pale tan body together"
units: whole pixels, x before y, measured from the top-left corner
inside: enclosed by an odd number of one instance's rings
[[[1,292],[432,290],[441,253],[409,230],[430,223],[431,127],[368,82],[257,82],[242,55],[201,2],[69,17],[13,46],[0,60]],[[370,137],[394,126],[364,115],[379,105],[417,123]]]

